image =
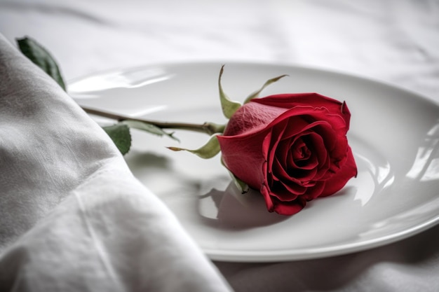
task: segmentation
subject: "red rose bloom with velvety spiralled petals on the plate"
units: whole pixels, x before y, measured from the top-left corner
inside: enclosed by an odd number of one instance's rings
[[[218,136],[222,159],[269,211],[292,215],[356,176],[350,118],[345,103],[316,93],[251,99]]]

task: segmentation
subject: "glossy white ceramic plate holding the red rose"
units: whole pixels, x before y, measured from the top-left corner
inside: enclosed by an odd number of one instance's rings
[[[161,64],[96,74],[72,82],[79,104],[163,121],[223,123],[219,63]],[[243,100],[264,81],[289,74],[263,95],[319,92],[345,100],[358,178],[294,216],[266,211],[258,193],[236,195],[219,159],[201,160],[165,146],[196,148],[208,138],[180,131],[180,144],[133,131],[126,161],[173,210],[214,260],[321,258],[396,242],[439,221],[439,108],[389,85],[316,69],[226,64],[223,86]]]

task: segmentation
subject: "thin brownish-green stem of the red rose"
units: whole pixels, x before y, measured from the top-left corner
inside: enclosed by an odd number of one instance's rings
[[[203,124],[191,124],[191,123],[167,123],[158,122],[156,120],[145,120],[142,118],[130,118],[129,116],[123,116],[119,113],[109,113],[108,111],[102,111],[99,109],[91,109],[86,106],[81,106],[81,108],[95,116],[102,116],[104,118],[111,118],[113,120],[123,121],[123,120],[134,120],[137,122],[148,123],[159,127],[161,129],[175,129],[175,130],[188,130],[193,132],[202,132],[205,134],[215,134],[222,133],[224,131],[224,125],[218,125],[215,123],[203,123]]]

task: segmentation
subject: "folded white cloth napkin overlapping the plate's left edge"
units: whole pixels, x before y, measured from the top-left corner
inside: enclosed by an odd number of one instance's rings
[[[107,134],[0,35],[0,291],[229,291]]]

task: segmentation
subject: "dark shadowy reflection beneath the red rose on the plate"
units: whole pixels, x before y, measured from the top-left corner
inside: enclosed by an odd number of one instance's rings
[[[241,194],[234,183],[226,190],[212,188],[198,200],[198,214],[205,223],[226,230],[245,230],[284,221],[289,216],[269,212],[256,190]]]

